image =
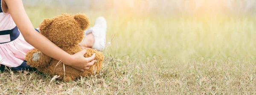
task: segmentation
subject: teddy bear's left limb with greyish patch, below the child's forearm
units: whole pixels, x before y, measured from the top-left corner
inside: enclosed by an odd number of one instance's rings
[[[49,65],[52,58],[43,54],[38,49],[32,49],[31,51],[27,52],[25,60],[31,67],[43,68]]]

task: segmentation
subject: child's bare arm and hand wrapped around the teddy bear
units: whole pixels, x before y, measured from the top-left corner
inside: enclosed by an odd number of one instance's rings
[[[93,60],[95,58],[95,54],[89,58],[84,58],[83,55],[86,53],[86,50],[83,50],[74,55],[70,55],[67,52],[64,52],[46,37],[36,32],[25,12],[22,0],[4,0],[4,2],[8,6],[7,12],[11,14],[12,19],[20,30],[24,39],[36,49],[40,50],[51,58],[61,60],[66,65],[70,65],[81,71],[88,69],[88,66],[92,66],[94,64]]]

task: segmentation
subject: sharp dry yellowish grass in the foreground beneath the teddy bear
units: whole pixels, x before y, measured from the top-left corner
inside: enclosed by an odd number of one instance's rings
[[[253,61],[111,60],[99,75],[64,83],[39,72],[0,73],[6,94],[256,94]]]

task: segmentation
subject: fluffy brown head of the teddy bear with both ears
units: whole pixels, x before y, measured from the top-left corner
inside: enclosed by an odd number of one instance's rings
[[[84,14],[61,14],[52,19],[44,19],[39,25],[39,31],[57,46],[71,46],[83,40],[84,30],[89,24]]]

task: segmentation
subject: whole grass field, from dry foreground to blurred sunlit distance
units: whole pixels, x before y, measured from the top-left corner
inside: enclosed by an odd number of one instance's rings
[[[62,12],[26,7],[34,27]],[[108,23],[98,75],[65,83],[35,72],[1,72],[0,94],[254,95],[256,17],[83,12]],[[52,81],[51,81],[52,80]]]

